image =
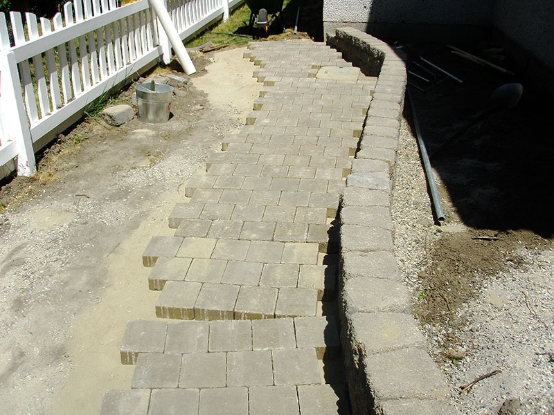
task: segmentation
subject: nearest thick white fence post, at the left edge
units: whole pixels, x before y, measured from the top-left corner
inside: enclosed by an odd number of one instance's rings
[[[17,147],[17,174],[33,176],[37,172],[33,139],[21,93],[19,71],[12,52],[0,53],[0,119],[3,133]]]

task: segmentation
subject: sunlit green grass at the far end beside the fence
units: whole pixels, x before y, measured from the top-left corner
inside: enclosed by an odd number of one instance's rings
[[[283,2],[283,9],[290,3],[292,0],[285,0]],[[250,19],[250,9],[246,4],[236,9],[231,16],[229,21],[223,22],[220,21],[217,26],[208,28],[206,32],[202,33],[198,37],[190,40],[186,43],[186,47],[190,48],[193,46],[199,46],[205,44],[208,41],[212,41],[214,44],[225,44],[225,45],[238,45],[243,46],[248,42],[252,42],[251,38],[248,37],[235,37],[229,35],[213,35],[208,32],[222,32],[222,33],[237,33],[238,35],[250,35],[248,28],[248,23]]]

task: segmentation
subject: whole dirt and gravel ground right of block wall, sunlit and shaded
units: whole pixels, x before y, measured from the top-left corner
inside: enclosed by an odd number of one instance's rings
[[[427,90],[409,87],[430,154],[489,107],[494,89],[518,80],[444,45],[412,45],[411,53],[463,80],[436,85],[409,76]],[[430,77],[413,64],[409,69]],[[524,86],[517,107],[494,111],[431,157],[445,211],[441,227],[433,224],[408,100],[404,106],[395,248],[413,315],[464,414],[496,415],[510,398],[522,407],[505,413],[554,413],[548,360],[554,356],[554,143],[551,105],[533,92]],[[461,385],[497,369],[494,378],[459,393]]]

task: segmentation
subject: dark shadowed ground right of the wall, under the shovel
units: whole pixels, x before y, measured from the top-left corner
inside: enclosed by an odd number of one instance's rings
[[[408,87],[431,154],[488,108],[494,89],[518,80],[517,75],[467,62],[444,46],[425,46],[420,54],[463,80],[463,84],[418,82],[425,93]],[[417,66],[409,69],[429,77]],[[431,158],[444,185],[441,199],[452,203],[452,211],[465,225],[500,232],[530,230],[552,237],[554,142],[547,122],[551,106],[540,98],[526,93],[524,85],[517,107],[495,111],[476,122]],[[407,100],[404,111],[411,121]],[[413,122],[411,128],[414,131]]]

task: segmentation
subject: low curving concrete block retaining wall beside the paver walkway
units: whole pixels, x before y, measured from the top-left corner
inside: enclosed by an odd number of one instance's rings
[[[339,315],[353,414],[458,414],[410,314],[393,253],[391,192],[404,106],[404,56],[354,28],[328,43],[379,71],[341,197]]]

